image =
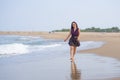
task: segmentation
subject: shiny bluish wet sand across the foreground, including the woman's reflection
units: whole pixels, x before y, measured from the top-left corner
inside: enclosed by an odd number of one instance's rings
[[[19,63],[18,60],[12,63],[0,67],[0,74],[2,74],[0,79],[110,80],[120,76],[120,62],[118,60],[95,54],[77,54],[75,62],[71,62],[66,55],[46,60],[34,57],[34,60],[31,59],[27,62]]]

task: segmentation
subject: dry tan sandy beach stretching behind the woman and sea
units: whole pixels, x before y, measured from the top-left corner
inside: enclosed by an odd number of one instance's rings
[[[0,35],[23,35],[23,36],[40,36],[45,39],[60,39],[64,40],[68,32],[0,32]],[[81,32],[80,41],[103,41],[105,44],[96,49],[78,51],[79,54],[97,54],[100,56],[111,57],[120,60],[120,33],[96,33],[96,32]],[[54,63],[54,62],[53,62]],[[31,64],[27,64],[31,65]],[[26,65],[24,65],[27,68]],[[74,66],[74,64],[72,64]],[[74,69],[75,70],[75,69]],[[35,75],[34,75],[35,76]],[[79,79],[80,80],[80,79]],[[104,80],[104,79],[103,79]],[[106,80],[106,79],[105,79]],[[109,80],[120,80],[113,78]]]

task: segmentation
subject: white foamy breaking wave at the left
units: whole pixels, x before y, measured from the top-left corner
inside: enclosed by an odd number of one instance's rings
[[[54,48],[61,46],[61,44],[50,44],[50,45],[25,45],[22,43],[4,44],[0,45],[0,55],[17,55],[26,54],[34,51],[44,50],[46,48]]]

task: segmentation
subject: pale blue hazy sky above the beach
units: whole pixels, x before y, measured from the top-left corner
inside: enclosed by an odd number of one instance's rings
[[[120,28],[120,0],[0,0],[0,31]]]

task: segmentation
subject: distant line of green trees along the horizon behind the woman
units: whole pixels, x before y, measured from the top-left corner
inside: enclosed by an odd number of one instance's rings
[[[53,30],[52,32],[68,32],[68,31],[70,31],[70,29]],[[91,27],[91,28],[81,29],[81,32],[120,32],[120,29],[118,27],[105,28],[105,29]]]

